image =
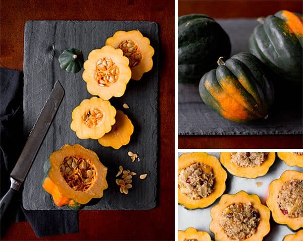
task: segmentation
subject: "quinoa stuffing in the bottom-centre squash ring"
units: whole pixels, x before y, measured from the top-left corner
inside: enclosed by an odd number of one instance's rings
[[[259,222],[259,211],[250,202],[234,203],[223,210],[219,225],[229,238],[244,240],[256,232]]]

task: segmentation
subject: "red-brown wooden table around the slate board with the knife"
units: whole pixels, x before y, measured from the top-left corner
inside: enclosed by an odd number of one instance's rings
[[[2,1],[2,67],[23,69],[27,20],[138,20],[160,26],[159,204],[148,211],[79,211],[79,233],[39,240],[172,240],[174,238],[174,2]],[[37,240],[28,222],[13,223],[3,240]]]

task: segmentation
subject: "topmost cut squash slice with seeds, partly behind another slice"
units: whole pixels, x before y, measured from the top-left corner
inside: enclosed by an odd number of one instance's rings
[[[153,67],[155,50],[150,46],[148,38],[143,37],[139,30],[117,31],[113,37],[106,40],[106,45],[122,49],[124,56],[129,59],[131,78],[141,79],[143,73]]]

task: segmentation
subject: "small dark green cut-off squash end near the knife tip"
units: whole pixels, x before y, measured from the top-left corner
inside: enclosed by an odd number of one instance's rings
[[[74,58],[74,55],[77,57]],[[81,70],[84,58],[81,50],[70,48],[66,49],[59,56],[60,67],[68,72],[77,73]]]

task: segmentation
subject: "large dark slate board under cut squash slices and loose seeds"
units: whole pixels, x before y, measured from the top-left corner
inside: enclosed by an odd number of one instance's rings
[[[138,29],[150,39],[155,49],[154,66],[144,73],[141,81],[130,81],[121,98],[110,102],[116,109],[126,113],[134,125],[134,133],[128,145],[114,150],[103,147],[97,140],[79,139],[70,129],[72,110],[83,99],[92,96],[86,91],[82,79],[83,69],[74,74],[60,68],[59,55],[67,48],[81,49],[84,59],[88,53],[104,46],[108,37],[118,30]],[[24,183],[23,206],[27,210],[57,210],[51,195],[41,187],[43,163],[53,151],[65,143],[79,143],[92,149],[108,168],[109,188],[102,199],[94,199],[84,209],[152,209],[157,203],[157,158],[158,158],[158,55],[159,31],[154,22],[120,21],[28,21],[24,34],[24,131],[28,135],[47,97],[59,80],[65,96],[39,149]],[[130,109],[123,109],[127,103]],[[140,162],[131,162],[128,151],[138,153]],[[121,194],[115,179],[122,165],[136,172],[133,188],[128,195]],[[145,180],[139,175],[147,173]]]

